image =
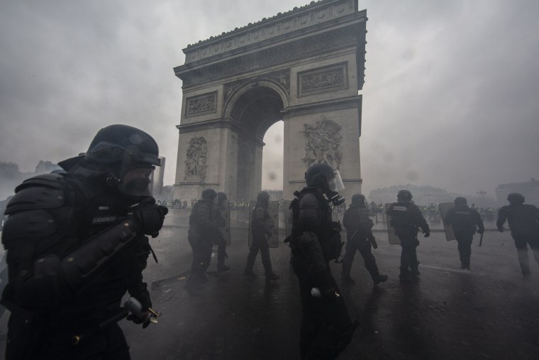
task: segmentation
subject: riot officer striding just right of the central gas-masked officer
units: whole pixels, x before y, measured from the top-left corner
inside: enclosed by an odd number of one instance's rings
[[[371,248],[377,249],[378,245],[372,234],[372,220],[369,218],[369,212],[365,204],[365,197],[360,194],[352,196],[352,204],[345,211],[343,225],[346,229],[346,247],[343,257],[343,273],[341,278],[350,283],[353,279],[350,277],[350,269],[356,251],[360,251],[365,268],[369,271],[374,284],[379,284],[387,280],[387,275],[380,275],[376,259],[372,255]]]

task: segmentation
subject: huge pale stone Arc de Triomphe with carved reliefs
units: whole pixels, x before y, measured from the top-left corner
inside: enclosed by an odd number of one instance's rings
[[[284,121],[284,198],[309,165],[330,163],[345,197],[361,191],[360,134],[367,13],[321,0],[188,45],[174,197],[202,190],[253,200],[267,129]]]

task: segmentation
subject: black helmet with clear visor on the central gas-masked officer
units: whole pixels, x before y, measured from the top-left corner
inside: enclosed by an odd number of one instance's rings
[[[343,179],[340,178],[339,170],[334,170],[331,165],[312,165],[305,173],[305,180],[307,187],[320,187],[333,205],[338,206],[345,202],[345,198],[339,195],[339,191],[345,188]]]

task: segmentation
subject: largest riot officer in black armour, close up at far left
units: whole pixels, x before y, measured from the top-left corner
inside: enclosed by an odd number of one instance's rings
[[[148,314],[145,234],[167,214],[150,193],[157,143],[111,125],[59,165],[66,173],[25,180],[6,208],[6,359],[130,359],[120,302],[127,291]]]

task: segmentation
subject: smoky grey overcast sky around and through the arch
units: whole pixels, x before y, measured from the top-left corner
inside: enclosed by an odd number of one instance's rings
[[[182,48],[308,0],[0,0],[0,161],[35,169],[101,127],[150,133],[174,183]],[[360,1],[367,70],[363,192],[432,185],[494,195],[539,178],[539,1]],[[265,137],[282,187],[282,123]],[[273,182],[268,172],[277,173]]]

